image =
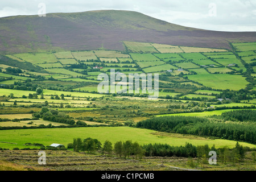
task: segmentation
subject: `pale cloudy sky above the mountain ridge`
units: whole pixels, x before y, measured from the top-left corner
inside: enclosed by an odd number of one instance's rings
[[[256,31],[256,0],[8,0],[0,17],[92,10],[129,10],[182,26],[216,31]]]

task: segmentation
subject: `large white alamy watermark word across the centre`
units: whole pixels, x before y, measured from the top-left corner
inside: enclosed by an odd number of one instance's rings
[[[103,79],[103,80],[102,80]],[[98,93],[128,93],[148,94],[149,99],[159,97],[159,74],[154,74],[154,89],[152,74],[129,73],[128,77],[121,72],[110,69],[110,76],[106,73],[98,75]],[[141,83],[141,84],[140,84]]]

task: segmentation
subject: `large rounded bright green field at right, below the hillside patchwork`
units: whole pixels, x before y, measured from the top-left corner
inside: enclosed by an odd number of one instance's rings
[[[249,82],[241,75],[228,74],[203,74],[203,75],[188,75],[189,80],[199,82],[204,86],[214,89],[230,89],[240,90],[244,89]],[[216,84],[217,83],[217,84]]]

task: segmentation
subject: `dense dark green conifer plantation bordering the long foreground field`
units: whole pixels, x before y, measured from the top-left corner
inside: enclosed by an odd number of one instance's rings
[[[210,122],[207,118],[171,116],[138,122],[136,127],[168,133],[192,134],[256,143],[256,126],[239,123]]]

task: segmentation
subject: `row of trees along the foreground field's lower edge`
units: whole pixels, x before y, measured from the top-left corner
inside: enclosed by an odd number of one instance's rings
[[[238,142],[234,148],[216,148],[214,145],[212,147],[209,147],[208,144],[204,146],[194,146],[191,143],[185,143],[185,146],[170,146],[169,144],[160,143],[141,145],[131,140],[126,140],[125,142],[118,141],[112,144],[109,140],[105,140],[102,146],[99,140],[93,138],[74,138],[73,142],[69,143],[67,148],[73,149],[75,152],[87,151],[90,154],[96,154],[96,152],[101,152],[102,155],[107,154],[109,156],[113,156],[114,154],[125,159],[129,158],[129,156],[135,156],[136,159],[142,159],[143,156],[177,156],[204,160],[209,158],[210,151],[216,151],[218,159],[220,159],[222,163],[231,162],[233,160],[236,160],[236,162],[242,161],[245,158],[245,152],[251,150],[249,147],[243,147]],[[253,150],[255,150],[255,148]]]

